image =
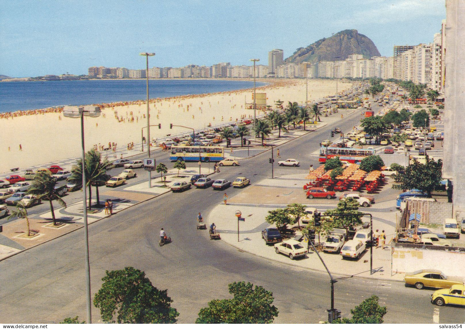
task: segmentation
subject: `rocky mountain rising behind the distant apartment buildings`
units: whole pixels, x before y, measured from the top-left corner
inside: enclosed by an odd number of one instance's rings
[[[381,56],[370,38],[357,30],[340,31],[329,38],[320,39],[310,46],[298,48],[286,63],[317,63],[323,60],[345,60],[352,54],[362,54],[364,58]]]

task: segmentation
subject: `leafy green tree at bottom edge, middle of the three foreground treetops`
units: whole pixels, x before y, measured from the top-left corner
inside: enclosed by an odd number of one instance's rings
[[[271,291],[250,282],[229,284],[231,299],[214,299],[208,307],[200,309],[195,323],[272,323],[278,309]]]

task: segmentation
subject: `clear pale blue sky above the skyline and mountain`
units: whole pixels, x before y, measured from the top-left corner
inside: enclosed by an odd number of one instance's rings
[[[86,74],[91,66],[267,65],[268,51],[357,29],[392,56],[429,43],[445,0],[0,0],[0,74]]]

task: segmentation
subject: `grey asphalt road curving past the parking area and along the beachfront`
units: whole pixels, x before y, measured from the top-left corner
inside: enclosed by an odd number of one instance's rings
[[[318,159],[309,154],[327,139],[336,126],[344,132],[359,123],[360,114],[351,114],[342,123],[326,126],[281,145],[281,156],[301,160],[299,170],[307,170]],[[157,161],[168,154],[157,152]],[[232,180],[238,175],[252,183],[271,176],[269,153],[241,161],[241,166],[222,168],[216,177]],[[291,168],[275,167],[275,175]],[[142,175],[138,175],[141,177]],[[145,175],[144,175],[145,177]],[[229,188],[228,195],[239,193]],[[329,277],[325,273],[271,262],[240,252],[222,241],[211,241],[208,232],[196,229],[199,211],[206,215],[222,201],[223,192],[191,189],[166,194],[124,210],[90,226],[91,283],[94,295],[106,270],[126,266],[144,270],[159,289],[168,289],[180,323],[193,323],[199,310],[216,298],[230,298],[227,284],[252,282],[271,290],[279,309],[276,323],[315,323],[327,320],[330,308]],[[79,199],[79,195],[76,196]],[[173,238],[159,247],[158,232],[163,227]],[[65,317],[85,319],[85,275],[83,230],[0,262],[0,321],[59,322]],[[357,266],[357,262],[354,262]],[[342,316],[375,294],[387,306],[386,323],[432,323],[434,306],[431,290],[405,288],[400,282],[362,278],[341,279],[335,285],[335,307]],[[464,322],[464,308],[440,308],[440,322]],[[93,322],[100,321],[93,308]]]

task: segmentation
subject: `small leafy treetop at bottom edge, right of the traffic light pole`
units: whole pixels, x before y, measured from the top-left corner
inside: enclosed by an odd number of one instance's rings
[[[371,297],[365,299],[354,309],[351,309],[352,319],[342,318],[333,321],[332,323],[368,323],[368,324],[378,324],[383,323],[383,316],[387,313],[385,306],[379,305],[379,297],[372,295]]]

